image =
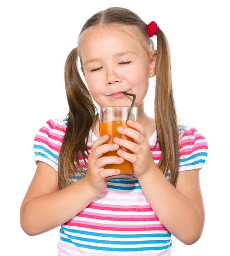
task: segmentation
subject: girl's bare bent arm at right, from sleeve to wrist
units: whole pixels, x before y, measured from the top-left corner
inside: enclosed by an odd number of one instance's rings
[[[199,169],[179,172],[176,188],[157,166],[138,181],[164,227],[184,244],[198,241],[204,227]]]

